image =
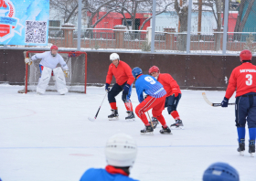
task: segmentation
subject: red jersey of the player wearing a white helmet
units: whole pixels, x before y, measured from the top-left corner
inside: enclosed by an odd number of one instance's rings
[[[132,85],[133,81],[135,80],[133,78],[132,69],[130,66],[119,60],[119,64],[117,67],[113,65],[113,63],[109,67],[109,71],[107,74],[106,83],[111,84],[112,82],[112,76],[114,76],[116,83],[118,85],[123,85],[127,81],[127,84]]]

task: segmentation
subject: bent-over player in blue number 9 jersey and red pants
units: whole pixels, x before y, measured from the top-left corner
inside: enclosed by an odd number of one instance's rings
[[[165,118],[162,115],[165,109],[166,91],[163,85],[150,75],[144,75],[142,69],[136,67],[132,71],[136,79],[135,87],[140,104],[136,107],[137,116],[144,122],[145,128],[141,133],[153,133],[154,129],[148,122],[144,112],[152,109],[153,116],[162,124],[163,130],[160,133],[171,133],[170,128],[166,125]],[[147,97],[144,99],[144,93]]]

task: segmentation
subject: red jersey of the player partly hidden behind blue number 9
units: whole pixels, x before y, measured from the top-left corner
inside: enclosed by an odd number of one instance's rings
[[[166,97],[174,94],[174,93],[181,93],[176,80],[168,73],[160,73],[158,75],[157,81],[159,81],[166,91]]]

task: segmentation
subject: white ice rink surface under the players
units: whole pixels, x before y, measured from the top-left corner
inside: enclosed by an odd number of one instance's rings
[[[208,165],[225,162],[240,173],[241,181],[256,180],[256,158],[238,147],[234,106],[214,108],[203,91],[182,91],[178,112],[185,130],[173,135],[141,135],[143,122],[127,122],[121,94],[117,96],[119,121],[108,121],[110,105],[104,88],[88,87],[87,94],[57,92],[19,94],[20,86],[0,85],[0,177],[3,181],[79,181],[88,168],[106,165],[104,145],[114,133],[128,133],[138,145],[131,177],[145,181],[202,180]],[[221,102],[224,91],[206,91],[209,101]],[[133,89],[133,109],[138,105]],[[235,101],[234,95],[229,102]],[[151,112],[150,112],[151,113]],[[168,125],[173,118],[164,111]]]

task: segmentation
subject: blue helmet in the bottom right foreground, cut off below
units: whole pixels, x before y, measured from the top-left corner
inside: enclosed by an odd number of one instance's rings
[[[238,171],[225,163],[215,163],[208,166],[203,176],[203,181],[239,181]]]

